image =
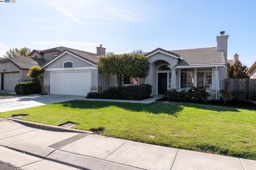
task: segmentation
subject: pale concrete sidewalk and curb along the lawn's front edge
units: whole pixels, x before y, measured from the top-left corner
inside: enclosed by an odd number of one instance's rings
[[[0,145],[0,161],[24,169],[252,170],[256,167],[254,160],[89,133],[47,131],[3,119],[0,119]],[[21,152],[28,155],[21,156]]]

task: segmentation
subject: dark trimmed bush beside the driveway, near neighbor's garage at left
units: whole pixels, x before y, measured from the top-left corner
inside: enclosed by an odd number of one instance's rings
[[[17,83],[15,88],[17,95],[31,95],[41,93],[41,86],[37,81]]]

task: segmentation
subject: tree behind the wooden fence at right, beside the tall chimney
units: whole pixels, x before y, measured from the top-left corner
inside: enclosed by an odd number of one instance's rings
[[[228,78],[230,79],[249,79],[249,75],[246,73],[248,67],[243,65],[240,61],[237,61],[234,65],[228,63]]]

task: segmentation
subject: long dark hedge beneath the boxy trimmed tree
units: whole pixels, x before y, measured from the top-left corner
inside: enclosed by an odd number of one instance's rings
[[[103,92],[89,92],[86,98],[142,100],[149,98],[151,92],[152,86],[150,84],[116,86],[110,87]]]

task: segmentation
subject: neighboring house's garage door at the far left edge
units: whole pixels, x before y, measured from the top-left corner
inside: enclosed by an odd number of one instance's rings
[[[18,83],[20,73],[5,73],[4,74],[4,90],[14,90]]]

